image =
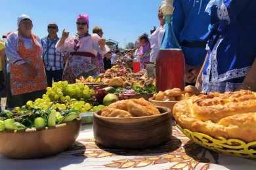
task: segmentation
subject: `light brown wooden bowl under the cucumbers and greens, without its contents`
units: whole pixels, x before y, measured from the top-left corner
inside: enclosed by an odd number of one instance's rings
[[[0,153],[13,159],[53,156],[75,142],[81,129],[81,117],[66,124],[42,130],[0,132]]]

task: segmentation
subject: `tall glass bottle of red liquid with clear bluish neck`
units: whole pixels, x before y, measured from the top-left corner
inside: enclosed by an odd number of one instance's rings
[[[156,91],[184,90],[185,61],[171,24],[173,16],[165,16],[165,34],[156,58]]]

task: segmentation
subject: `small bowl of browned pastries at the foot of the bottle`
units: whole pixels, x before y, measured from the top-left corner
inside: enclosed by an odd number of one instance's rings
[[[173,88],[171,90],[165,90],[165,92],[158,92],[149,99],[155,106],[167,107],[173,110],[173,107],[178,101],[192,97],[193,95],[199,95],[200,92],[195,86],[186,86],[184,91],[179,88]]]

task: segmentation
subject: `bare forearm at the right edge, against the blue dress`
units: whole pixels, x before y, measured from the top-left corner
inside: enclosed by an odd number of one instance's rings
[[[244,78],[244,84],[242,84],[238,90],[245,89],[245,90],[256,90],[256,58],[253,61],[253,64],[251,65],[251,68],[249,69],[248,73],[246,74]],[[251,88],[251,89],[250,89]]]

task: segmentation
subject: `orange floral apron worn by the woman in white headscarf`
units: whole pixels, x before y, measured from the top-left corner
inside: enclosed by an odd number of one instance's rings
[[[47,88],[45,67],[41,58],[40,46],[35,44],[35,36],[32,35],[32,48],[27,49],[22,39],[18,41],[18,54],[31,65],[37,72],[35,77],[28,76],[19,65],[11,65],[11,93],[12,95],[24,94]]]

